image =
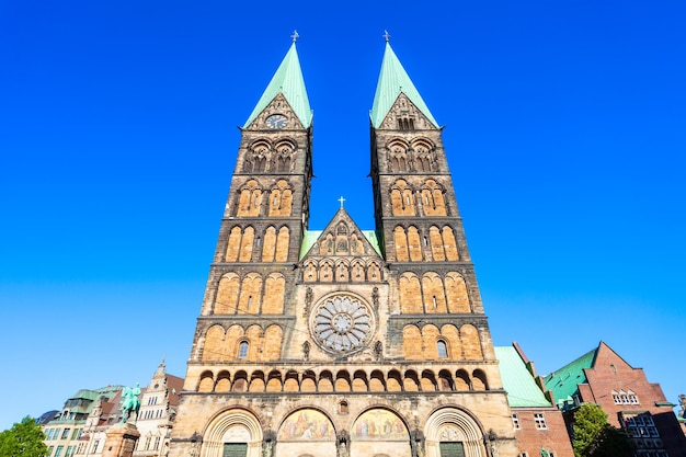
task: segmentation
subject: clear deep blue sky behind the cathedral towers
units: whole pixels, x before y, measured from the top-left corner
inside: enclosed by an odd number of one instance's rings
[[[196,3],[0,1],[0,430],[184,376],[236,126],[294,28],[311,229],[341,195],[374,228],[386,28],[446,125],[494,343],[548,374],[603,340],[686,391],[686,3]]]

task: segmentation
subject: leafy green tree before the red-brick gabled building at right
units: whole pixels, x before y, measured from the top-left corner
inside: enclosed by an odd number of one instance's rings
[[[607,423],[607,414],[595,403],[584,403],[574,413],[572,448],[575,457],[622,457],[633,455],[633,444],[621,430]]]

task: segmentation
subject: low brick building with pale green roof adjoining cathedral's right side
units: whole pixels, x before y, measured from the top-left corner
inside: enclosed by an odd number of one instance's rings
[[[573,457],[562,412],[542,387],[534,363],[516,343],[510,347],[495,347],[495,355],[507,391],[519,456],[538,457],[545,449],[550,457]]]

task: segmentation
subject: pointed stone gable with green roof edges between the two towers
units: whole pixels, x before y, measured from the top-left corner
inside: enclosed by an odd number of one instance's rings
[[[324,230],[308,230],[300,249],[300,260],[368,255],[381,256],[376,232],[361,230],[344,208],[339,209]]]

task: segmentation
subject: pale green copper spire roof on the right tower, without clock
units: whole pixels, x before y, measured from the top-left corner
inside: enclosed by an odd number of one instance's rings
[[[424,103],[422,95],[412,83],[408,72],[402,68],[402,64],[398,60],[396,53],[390,47],[390,43],[386,42],[386,52],[384,53],[384,61],[381,64],[381,72],[379,73],[379,82],[376,85],[376,95],[374,95],[374,105],[369,116],[371,125],[378,128],[384,118],[398,100],[400,93],[404,93],[408,99],[432,122],[436,127],[438,123],[434,119],[428,106]]]

